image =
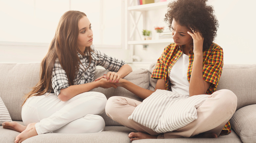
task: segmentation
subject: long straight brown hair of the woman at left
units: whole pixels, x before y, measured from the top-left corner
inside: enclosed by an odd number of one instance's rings
[[[74,85],[75,76],[79,71],[79,63],[82,64],[77,52],[82,56],[87,56],[91,64],[91,47],[86,47],[85,54],[79,50],[77,45],[78,21],[84,16],[86,16],[85,13],[73,10],[67,11],[61,16],[48,53],[41,62],[40,80],[32,87],[32,91],[25,95],[25,101],[22,105],[32,96],[44,95],[53,91],[52,73],[56,59],[59,60],[61,67],[65,70],[70,86]]]

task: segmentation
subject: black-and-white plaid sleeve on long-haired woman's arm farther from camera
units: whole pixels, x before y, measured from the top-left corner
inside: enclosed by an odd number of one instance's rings
[[[126,64],[123,60],[118,60],[111,56],[107,56],[105,53],[102,53],[98,50],[94,49],[94,54],[99,59],[97,61],[98,66],[102,66],[109,71],[117,72],[124,64]]]

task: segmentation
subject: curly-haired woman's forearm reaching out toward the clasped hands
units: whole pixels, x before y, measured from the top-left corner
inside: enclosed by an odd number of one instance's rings
[[[139,87],[135,84],[133,84],[130,81],[127,81],[125,79],[120,79],[121,81],[121,87],[124,87],[125,89],[129,90],[130,92],[132,92],[133,94],[137,95],[138,97],[142,98],[142,99],[146,99],[147,97],[149,97],[154,91],[152,90],[148,90],[148,89],[144,89],[142,87]]]

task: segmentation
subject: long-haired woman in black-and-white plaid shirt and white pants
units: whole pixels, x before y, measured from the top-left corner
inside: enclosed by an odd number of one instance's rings
[[[92,26],[86,14],[67,11],[59,20],[49,51],[41,63],[40,80],[26,95],[22,120],[4,122],[3,128],[20,132],[15,143],[44,133],[95,133],[103,131],[107,99],[90,90],[117,88],[132,68],[94,49]],[[94,81],[96,66],[110,70]],[[113,72],[111,72],[113,71]]]

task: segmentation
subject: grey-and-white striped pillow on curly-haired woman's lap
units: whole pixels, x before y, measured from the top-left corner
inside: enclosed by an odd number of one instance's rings
[[[197,108],[206,98],[208,95],[188,97],[157,89],[135,108],[128,119],[133,119],[157,133],[171,132],[197,119]]]

